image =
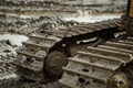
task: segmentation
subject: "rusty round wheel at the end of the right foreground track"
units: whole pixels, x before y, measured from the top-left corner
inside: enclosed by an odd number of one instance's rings
[[[127,77],[123,73],[117,73],[109,80],[109,88],[129,88]]]

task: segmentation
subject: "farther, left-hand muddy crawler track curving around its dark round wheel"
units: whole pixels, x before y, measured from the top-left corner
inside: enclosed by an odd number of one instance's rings
[[[120,20],[114,19],[66,29],[43,30],[41,33],[30,35],[29,41],[22,43],[22,48],[17,51],[18,59],[14,64],[21,72],[19,73],[20,76],[29,79],[42,81],[47,79],[42,79],[45,75],[54,76],[55,78],[52,77],[52,79],[57,79],[57,77],[59,79],[62,74],[62,66],[68,63],[68,46],[71,42],[106,36],[108,32],[108,34],[112,34],[120,31],[117,30],[119,25]],[[53,63],[57,64],[53,65]]]

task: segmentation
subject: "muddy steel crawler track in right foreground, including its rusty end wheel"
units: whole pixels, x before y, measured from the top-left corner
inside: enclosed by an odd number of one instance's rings
[[[72,88],[133,88],[132,63],[133,37],[115,38],[78,51],[63,67],[60,82]],[[131,79],[130,84],[125,75]]]

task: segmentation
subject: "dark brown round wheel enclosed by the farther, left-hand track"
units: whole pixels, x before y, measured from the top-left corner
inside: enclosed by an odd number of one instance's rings
[[[54,51],[45,58],[45,72],[49,76],[62,76],[62,67],[68,64],[66,55]]]

